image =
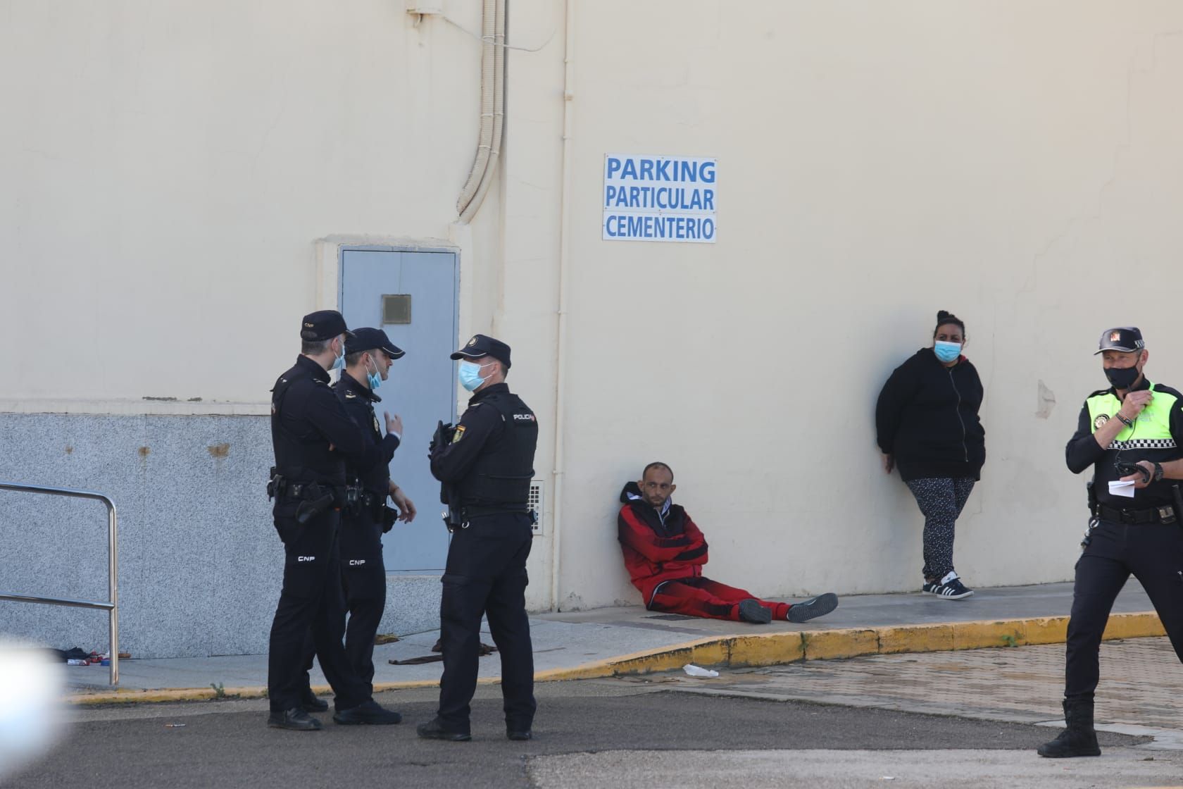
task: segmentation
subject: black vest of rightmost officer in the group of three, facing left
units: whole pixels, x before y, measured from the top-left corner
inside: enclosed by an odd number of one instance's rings
[[[538,420],[516,394],[487,396],[479,408],[496,408],[504,421],[500,435],[489,439],[468,473],[458,483],[464,507],[526,511]]]

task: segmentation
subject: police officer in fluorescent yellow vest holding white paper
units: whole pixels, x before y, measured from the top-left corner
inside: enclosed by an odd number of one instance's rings
[[[1067,447],[1073,473],[1093,467],[1093,517],[1068,621],[1067,729],[1040,745],[1040,756],[1048,757],[1100,755],[1093,730],[1098,652],[1113,600],[1131,573],[1183,660],[1183,513],[1171,481],[1183,478],[1183,395],[1143,374],[1150,354],[1132,326],[1105,331],[1097,353],[1113,386],[1088,396]]]

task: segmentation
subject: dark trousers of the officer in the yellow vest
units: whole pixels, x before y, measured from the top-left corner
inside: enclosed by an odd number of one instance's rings
[[[1064,696],[1092,699],[1100,678],[1100,645],[1110,610],[1132,573],[1163,620],[1183,660],[1183,526],[1101,520],[1077,562],[1068,620]]]

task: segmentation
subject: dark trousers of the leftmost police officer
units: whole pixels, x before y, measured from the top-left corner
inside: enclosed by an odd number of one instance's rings
[[[304,645],[311,632],[336,709],[348,710],[369,700],[370,694],[341,644],[345,615],[337,557],[338,515],[330,510],[302,526],[295,518],[297,505],[276,505],[276,530],[284,542],[285,561],[284,587],[271,623],[267,696],[272,711],[299,706],[308,684]]]

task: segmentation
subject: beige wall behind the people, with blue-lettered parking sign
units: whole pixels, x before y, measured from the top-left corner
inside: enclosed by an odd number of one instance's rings
[[[712,575],[910,589],[920,519],[872,409],[950,309],[989,453],[958,569],[1068,577],[1095,337],[1139,323],[1183,386],[1183,7],[571,5],[511,0],[502,176],[471,226],[474,0],[418,27],[394,0],[0,6],[0,308],[35,338],[0,350],[0,401],[265,408],[338,239],[451,244],[460,334],[513,345],[543,428],[532,607],[636,600],[615,499],[654,458]],[[718,157],[718,242],[601,240],[608,151]]]

